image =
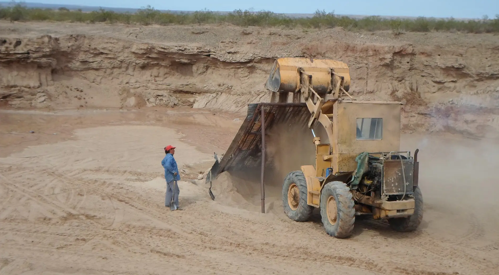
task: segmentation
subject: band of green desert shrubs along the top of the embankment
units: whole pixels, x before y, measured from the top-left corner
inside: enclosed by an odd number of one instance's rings
[[[383,18],[368,16],[355,19],[338,16],[334,12],[317,10],[311,17],[291,18],[271,11],[234,10],[219,13],[209,10],[196,12],[163,12],[151,6],[139,9],[135,13],[118,13],[100,9],[83,12],[67,8],[40,9],[28,8],[22,3],[8,7],[0,6],[0,20],[10,21],[66,21],[87,23],[125,23],[125,24],[217,24],[230,23],[236,26],[282,27],[282,28],[335,28],[345,30],[386,31],[395,34],[403,32],[463,32],[463,33],[499,33],[499,15],[495,18],[484,16],[482,19],[457,20],[454,18]]]

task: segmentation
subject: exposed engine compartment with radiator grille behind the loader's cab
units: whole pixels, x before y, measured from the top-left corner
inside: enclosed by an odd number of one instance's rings
[[[401,153],[368,154],[368,171],[363,173],[357,192],[388,202],[412,197],[414,158],[410,152],[403,152],[406,156]]]

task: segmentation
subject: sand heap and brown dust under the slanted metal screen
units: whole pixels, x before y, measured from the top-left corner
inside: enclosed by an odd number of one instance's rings
[[[266,133],[266,205],[280,204],[282,183],[291,171],[315,164],[312,131],[301,124],[280,123]],[[220,199],[232,207],[251,211],[261,208],[261,164],[224,172],[213,181]],[[279,211],[279,210],[277,210]]]

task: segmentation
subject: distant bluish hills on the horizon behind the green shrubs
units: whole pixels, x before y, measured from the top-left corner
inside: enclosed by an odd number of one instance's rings
[[[118,13],[135,13],[139,9],[132,8],[113,8],[113,7],[93,7],[93,6],[80,6],[80,5],[66,5],[66,4],[44,4],[44,3],[32,3],[32,2],[24,2],[24,3],[12,3],[12,2],[2,2],[0,1],[0,6],[8,7],[13,6],[15,4],[23,4],[28,8],[41,8],[41,9],[58,9],[58,8],[67,8],[69,10],[78,10],[81,9],[83,12],[91,12],[98,11],[100,8],[108,11],[114,11]],[[195,11],[177,11],[177,10],[159,10],[161,12],[170,12],[170,13],[192,13]],[[212,11],[220,14],[227,14],[231,11]],[[282,15],[291,17],[291,18],[305,18],[305,17],[313,17],[314,14],[311,13],[282,13]],[[350,18],[361,19],[364,17],[372,16],[372,15],[354,15],[354,14],[337,14],[338,16],[348,16]],[[392,18],[401,18],[401,19],[416,19],[417,17],[411,16],[380,16],[382,18],[392,19]],[[470,18],[454,18],[455,20],[469,20]]]

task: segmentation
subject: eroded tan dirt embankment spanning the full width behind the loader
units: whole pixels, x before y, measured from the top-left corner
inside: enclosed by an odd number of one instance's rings
[[[403,129],[499,133],[499,37],[233,26],[0,22],[0,106],[193,106],[268,101],[276,57],[346,62],[353,95],[405,102]]]

